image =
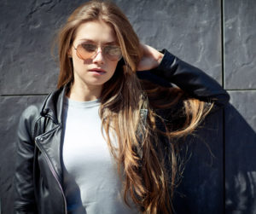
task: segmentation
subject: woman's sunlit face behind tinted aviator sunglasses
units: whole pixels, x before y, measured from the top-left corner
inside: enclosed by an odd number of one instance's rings
[[[82,45],[87,47],[88,44],[89,48],[90,44],[98,47],[96,53],[88,59],[81,59],[83,57],[76,49],[79,50]],[[89,21],[79,26],[73,46],[69,50],[73,59],[73,86],[102,88],[102,85],[112,78],[119,60],[108,59],[105,52],[108,51],[109,45],[116,46],[117,42],[112,27],[104,21]]]

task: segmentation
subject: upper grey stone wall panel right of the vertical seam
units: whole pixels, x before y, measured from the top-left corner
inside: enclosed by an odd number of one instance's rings
[[[225,86],[256,90],[256,3],[224,0]]]

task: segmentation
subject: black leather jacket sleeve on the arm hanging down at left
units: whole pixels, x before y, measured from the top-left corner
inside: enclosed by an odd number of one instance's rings
[[[33,127],[38,108],[28,107],[22,113],[17,132],[15,161],[15,213],[38,213],[33,188]]]

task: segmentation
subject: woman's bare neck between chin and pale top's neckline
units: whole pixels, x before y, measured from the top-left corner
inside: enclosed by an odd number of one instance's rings
[[[73,83],[67,97],[73,101],[93,101],[100,98],[102,85],[78,85]]]

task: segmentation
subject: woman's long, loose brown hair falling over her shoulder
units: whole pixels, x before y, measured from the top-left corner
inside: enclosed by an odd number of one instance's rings
[[[104,84],[100,107],[102,131],[118,165],[125,203],[128,205],[131,197],[142,213],[172,213],[179,168],[174,140],[192,133],[209,108],[182,90],[166,90],[137,78],[136,68],[142,57],[139,39],[125,14],[110,2],[84,3],[61,28],[58,88],[73,83],[73,65],[67,52],[78,27],[90,20],[103,20],[113,27],[125,61],[119,62],[113,77]],[[169,99],[159,99],[165,93]],[[177,107],[180,103],[182,108]],[[179,109],[171,112],[183,122],[166,122],[154,110],[158,108]],[[111,142],[112,136],[117,144]]]

